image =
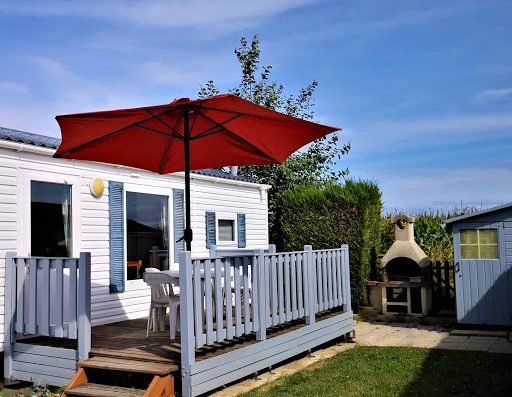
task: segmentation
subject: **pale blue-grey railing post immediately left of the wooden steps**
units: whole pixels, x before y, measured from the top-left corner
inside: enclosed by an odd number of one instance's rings
[[[91,253],[81,252],[78,261],[78,359],[89,358],[91,350]],[[71,275],[71,277],[76,277]],[[49,287],[49,286],[48,286]]]

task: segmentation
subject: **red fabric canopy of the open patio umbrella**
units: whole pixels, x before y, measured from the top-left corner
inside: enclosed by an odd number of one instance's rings
[[[232,94],[167,105],[56,117],[55,157],[99,161],[160,174],[283,162],[305,144],[339,130],[269,110]]]

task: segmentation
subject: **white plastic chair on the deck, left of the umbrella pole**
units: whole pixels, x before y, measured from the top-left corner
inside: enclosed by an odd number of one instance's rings
[[[175,339],[180,296],[174,294],[172,286],[178,285],[178,280],[155,268],[146,268],[143,279],[151,287],[151,304],[149,305],[146,337],[149,336],[149,329],[152,326],[156,328],[155,325],[158,317],[160,324],[163,326],[165,312],[169,308],[169,333],[170,338]]]

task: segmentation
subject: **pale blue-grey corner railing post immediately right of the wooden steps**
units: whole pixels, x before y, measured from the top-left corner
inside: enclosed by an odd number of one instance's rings
[[[183,397],[192,395],[190,371],[195,362],[194,301],[192,295],[192,256],[181,252],[180,264],[180,339],[181,339],[181,390]],[[205,269],[206,270],[206,269]]]

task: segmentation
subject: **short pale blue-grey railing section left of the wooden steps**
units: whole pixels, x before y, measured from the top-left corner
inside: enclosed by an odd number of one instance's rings
[[[79,258],[6,257],[6,339],[78,339],[87,357],[91,333],[91,255]],[[7,342],[7,341],[6,341]]]

